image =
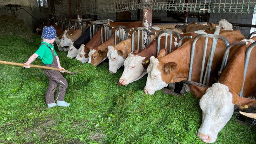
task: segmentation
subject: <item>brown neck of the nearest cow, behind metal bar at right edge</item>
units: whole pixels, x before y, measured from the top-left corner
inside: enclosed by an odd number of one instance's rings
[[[226,66],[225,70],[222,72],[219,82],[221,84],[224,84],[228,86],[230,92],[233,96],[237,96],[237,94],[240,92],[242,88],[242,83],[244,80],[244,59],[245,59],[245,53],[248,48],[248,45],[244,46],[236,46],[236,48],[233,48],[233,51],[235,53],[232,55],[230,52],[230,56],[232,57],[231,60],[229,60],[228,65]],[[244,93],[243,95],[245,97],[249,97],[252,94],[256,94],[256,49],[253,49],[251,52],[248,69],[246,72],[246,80],[244,84]]]

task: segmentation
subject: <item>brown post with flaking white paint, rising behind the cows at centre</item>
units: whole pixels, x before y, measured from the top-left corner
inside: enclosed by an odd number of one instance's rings
[[[152,0],[144,0],[144,2],[146,3],[146,5],[148,7],[151,7],[152,6]],[[148,30],[151,29],[151,26],[152,26],[152,8],[143,8],[143,13],[142,13],[142,17],[143,17],[143,20],[142,20],[142,26],[144,28],[147,28]],[[146,36],[146,32],[144,32],[144,37],[143,37],[143,44],[144,44],[144,47],[146,46],[146,43],[147,43],[147,36]]]

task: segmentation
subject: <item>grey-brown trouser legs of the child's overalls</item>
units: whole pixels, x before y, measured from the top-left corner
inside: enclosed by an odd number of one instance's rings
[[[50,66],[51,64],[47,64],[46,66]],[[54,67],[54,66],[51,66]],[[57,70],[46,70],[44,69],[44,73],[48,76],[49,86],[46,92],[45,100],[46,104],[54,103],[54,92],[59,84],[59,90],[56,93],[56,100],[64,100],[64,96],[66,93],[66,88],[68,87],[67,80],[60,74]]]

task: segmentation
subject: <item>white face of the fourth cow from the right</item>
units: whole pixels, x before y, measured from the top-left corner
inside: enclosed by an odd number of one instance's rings
[[[114,74],[121,66],[124,65],[124,58],[118,54],[118,51],[115,50],[113,46],[108,46],[107,56],[109,62],[108,71],[111,74]]]

